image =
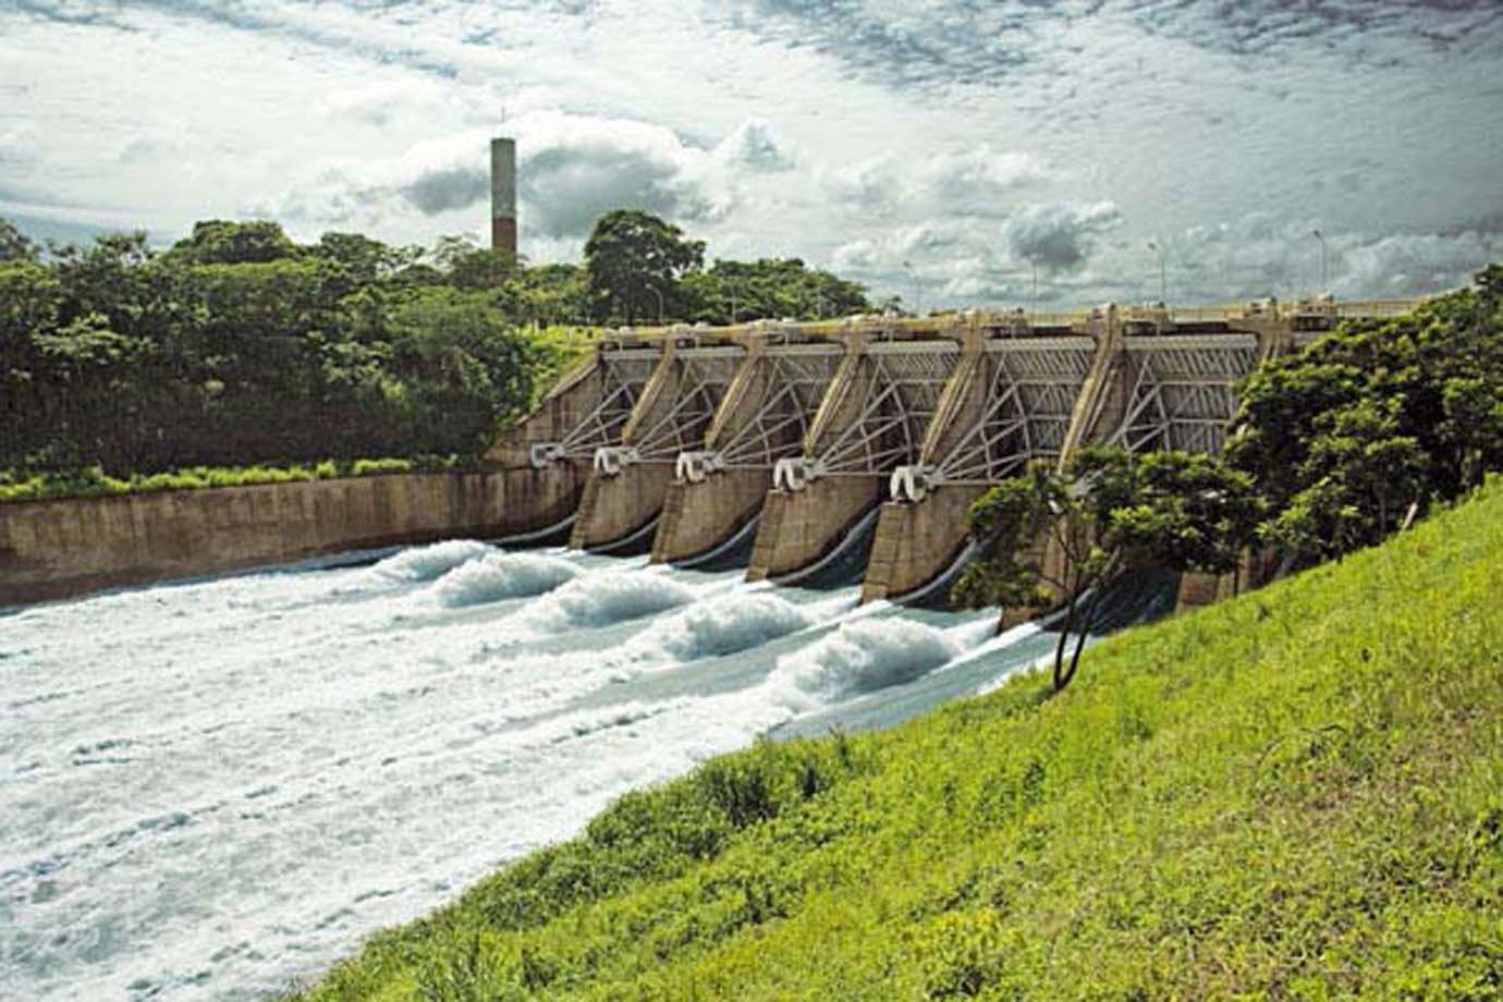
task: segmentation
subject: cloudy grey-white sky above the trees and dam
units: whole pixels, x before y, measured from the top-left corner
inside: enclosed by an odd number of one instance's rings
[[[1503,260],[1500,0],[0,0],[0,215],[313,239],[618,206],[923,306],[1341,296]]]

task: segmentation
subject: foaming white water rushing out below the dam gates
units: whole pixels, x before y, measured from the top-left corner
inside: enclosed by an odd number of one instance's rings
[[[624,790],[1040,640],[473,541],[0,616],[0,997],[275,994]]]

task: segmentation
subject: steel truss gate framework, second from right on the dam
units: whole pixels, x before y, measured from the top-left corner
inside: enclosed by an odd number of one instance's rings
[[[1094,353],[1091,338],[989,344],[981,419],[942,455],[929,457],[927,479],[984,487],[1028,460],[1058,457]]]

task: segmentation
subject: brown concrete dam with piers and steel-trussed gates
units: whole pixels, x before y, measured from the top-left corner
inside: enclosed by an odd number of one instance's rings
[[[875,523],[863,599],[924,592],[966,508],[1087,445],[1219,452],[1235,385],[1339,320],[1413,300],[968,312],[618,330],[508,430],[513,524],[693,563],[753,536],[748,578],[798,581]]]

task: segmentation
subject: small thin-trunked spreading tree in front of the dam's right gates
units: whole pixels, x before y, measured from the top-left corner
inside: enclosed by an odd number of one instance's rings
[[[971,608],[1064,601],[1054,688],[1075,678],[1103,593],[1123,575],[1159,563],[1175,571],[1235,569],[1261,506],[1252,478],[1220,460],[1184,452],[1132,457],[1084,449],[1064,470],[1033,463],[971,506],[981,556],[951,592]],[[1049,590],[1052,589],[1052,595]],[[1076,634],[1069,665],[1064,655]]]

